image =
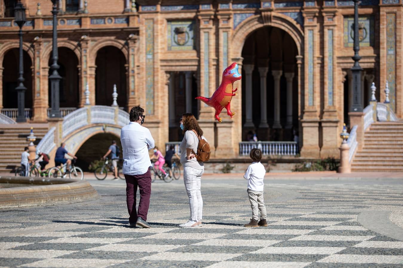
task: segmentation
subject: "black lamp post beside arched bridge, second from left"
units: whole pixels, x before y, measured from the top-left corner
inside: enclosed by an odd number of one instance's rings
[[[52,14],[53,14],[53,47],[52,47],[52,54],[53,54],[53,63],[50,66],[50,69],[52,70],[52,74],[49,76],[50,80],[50,88],[51,88],[51,103],[52,103],[52,108],[50,109],[50,118],[60,118],[60,103],[59,103],[59,83],[60,79],[62,77],[59,75],[57,70],[60,68],[60,66],[57,64],[58,60],[58,52],[57,52],[57,20],[56,20],[56,15],[58,13],[57,10],[57,2],[58,0],[52,0],[53,3],[53,8],[52,8]]]

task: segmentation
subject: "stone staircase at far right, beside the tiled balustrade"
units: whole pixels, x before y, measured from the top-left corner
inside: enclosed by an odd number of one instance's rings
[[[403,172],[403,122],[374,122],[351,162],[355,172]]]

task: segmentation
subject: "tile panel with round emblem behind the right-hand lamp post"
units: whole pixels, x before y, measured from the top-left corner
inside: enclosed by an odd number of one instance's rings
[[[344,47],[354,46],[354,17],[344,17]],[[360,47],[374,46],[374,17],[359,16],[359,45]]]

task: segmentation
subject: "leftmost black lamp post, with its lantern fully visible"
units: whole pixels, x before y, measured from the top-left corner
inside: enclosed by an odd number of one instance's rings
[[[23,31],[22,27],[27,21],[25,19],[25,7],[21,3],[21,0],[18,1],[18,3],[15,5],[14,12],[15,12],[15,23],[20,27],[20,31],[18,33],[18,36],[20,37],[20,48],[19,48],[19,77],[18,77],[18,82],[19,85],[15,90],[17,90],[17,102],[18,102],[18,115],[17,115],[17,122],[26,122],[27,119],[25,118],[25,90],[27,88],[24,86],[24,63],[23,63]]]

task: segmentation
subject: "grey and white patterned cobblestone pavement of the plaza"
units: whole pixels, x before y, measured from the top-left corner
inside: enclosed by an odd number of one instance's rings
[[[402,179],[266,180],[268,227],[245,228],[245,180],[206,176],[185,229],[183,180],[152,184],[151,229],[127,227],[124,181],[89,181],[99,200],[0,210],[0,266],[403,267]]]

